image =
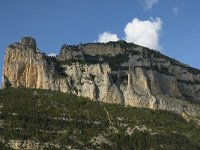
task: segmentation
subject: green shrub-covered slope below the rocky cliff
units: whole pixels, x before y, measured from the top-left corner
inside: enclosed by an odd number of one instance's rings
[[[200,128],[171,112],[92,102],[47,90],[0,90],[0,135],[6,140],[29,139],[73,148],[200,149]],[[147,130],[127,129],[145,126]],[[112,145],[94,145],[103,135]]]

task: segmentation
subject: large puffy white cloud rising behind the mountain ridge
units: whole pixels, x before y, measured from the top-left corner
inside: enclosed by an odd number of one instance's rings
[[[161,29],[162,21],[160,18],[144,21],[134,18],[124,29],[125,41],[160,50],[159,37]]]

